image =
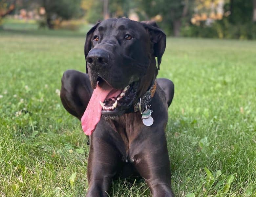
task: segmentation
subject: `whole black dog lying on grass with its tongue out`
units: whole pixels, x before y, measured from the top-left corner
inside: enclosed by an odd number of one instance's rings
[[[164,132],[174,85],[156,79],[165,44],[155,23],[108,19],[87,33],[88,74],[64,73],[63,106],[90,135],[87,196],[107,196],[113,178],[133,173],[153,196],[174,196]]]

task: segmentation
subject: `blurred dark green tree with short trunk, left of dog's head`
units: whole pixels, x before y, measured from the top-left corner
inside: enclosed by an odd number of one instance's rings
[[[54,21],[61,23],[62,20],[69,20],[72,17],[81,15],[81,0],[41,0],[46,11],[46,23],[50,29],[54,28]]]

